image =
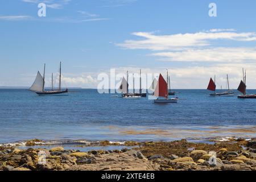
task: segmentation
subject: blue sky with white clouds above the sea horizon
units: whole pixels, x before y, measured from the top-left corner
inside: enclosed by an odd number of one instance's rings
[[[38,3],[47,5],[38,16]],[[217,17],[208,15],[209,3]],[[97,75],[165,72],[174,88],[236,88],[247,69],[256,88],[256,2],[146,0],[0,0],[0,86],[30,86],[47,64],[63,61],[68,86],[96,88]],[[254,86],[255,85],[255,86]]]

